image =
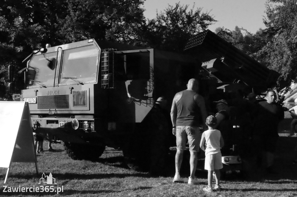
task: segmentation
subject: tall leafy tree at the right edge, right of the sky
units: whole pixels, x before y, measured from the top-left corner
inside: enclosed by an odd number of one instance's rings
[[[257,52],[258,59],[279,72],[280,88],[297,80],[297,0],[266,2],[266,45]]]

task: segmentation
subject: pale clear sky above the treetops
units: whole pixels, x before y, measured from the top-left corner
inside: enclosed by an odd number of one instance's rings
[[[179,0],[146,0],[144,2],[144,16],[149,19],[156,17],[163,11],[168,4],[175,5]],[[201,7],[202,12],[209,12],[217,20],[214,25],[208,27],[213,31],[217,27],[225,27],[234,30],[237,25],[239,28],[247,29],[250,33],[256,33],[259,28],[264,29],[263,17],[265,14],[266,0],[180,0],[181,5],[189,5],[189,8]]]

